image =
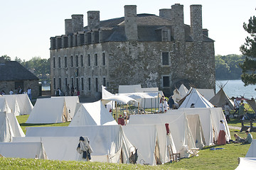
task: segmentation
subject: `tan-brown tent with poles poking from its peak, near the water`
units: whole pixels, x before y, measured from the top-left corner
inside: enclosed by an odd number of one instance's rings
[[[220,91],[218,91],[213,98],[210,98],[210,103],[220,108],[224,108],[225,103],[228,103],[228,106],[230,106],[231,109],[234,109],[234,102],[228,97],[227,94],[225,94],[223,88],[220,88]]]

